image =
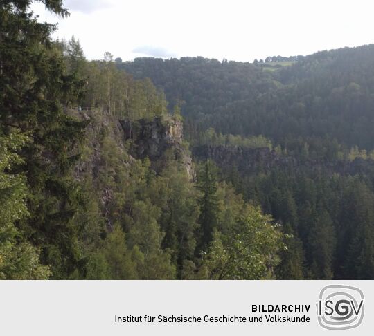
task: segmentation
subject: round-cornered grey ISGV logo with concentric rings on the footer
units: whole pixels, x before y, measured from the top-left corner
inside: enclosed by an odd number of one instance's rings
[[[364,294],[359,288],[329,285],[319,293],[319,324],[329,330],[346,330],[359,326],[364,319]]]

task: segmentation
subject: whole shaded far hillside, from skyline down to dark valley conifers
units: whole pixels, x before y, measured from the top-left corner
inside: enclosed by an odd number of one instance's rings
[[[370,45],[287,62],[117,66],[177,102],[195,160],[214,160],[290,234],[278,278],[373,279],[373,56]]]

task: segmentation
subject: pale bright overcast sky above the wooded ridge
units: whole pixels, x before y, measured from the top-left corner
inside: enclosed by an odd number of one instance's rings
[[[80,39],[89,59],[204,56],[249,61],[374,42],[373,0],[65,0],[54,37]]]

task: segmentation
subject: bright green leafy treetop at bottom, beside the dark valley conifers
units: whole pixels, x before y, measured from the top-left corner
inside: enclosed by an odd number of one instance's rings
[[[199,275],[203,279],[273,279],[281,261],[278,252],[284,248],[281,239],[270,218],[251,207],[227,236],[215,233]]]

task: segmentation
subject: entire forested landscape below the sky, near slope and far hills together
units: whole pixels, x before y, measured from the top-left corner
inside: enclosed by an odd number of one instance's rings
[[[0,3],[0,279],[373,279],[374,46],[89,61],[32,2]]]

